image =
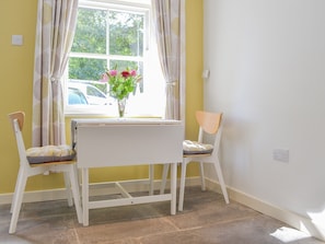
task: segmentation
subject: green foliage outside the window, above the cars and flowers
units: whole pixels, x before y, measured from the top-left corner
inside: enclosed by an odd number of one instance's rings
[[[143,14],[79,8],[69,79],[97,81],[115,65],[142,68],[142,63],[127,59],[143,56]],[[112,55],[126,59],[116,59]]]

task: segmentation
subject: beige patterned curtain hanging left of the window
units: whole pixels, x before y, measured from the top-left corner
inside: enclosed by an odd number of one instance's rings
[[[66,143],[62,75],[78,0],[38,0],[33,82],[33,146]]]

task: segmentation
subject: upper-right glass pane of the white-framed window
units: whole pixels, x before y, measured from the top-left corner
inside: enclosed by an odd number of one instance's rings
[[[143,22],[142,14],[111,11],[109,54],[123,56],[143,55]]]

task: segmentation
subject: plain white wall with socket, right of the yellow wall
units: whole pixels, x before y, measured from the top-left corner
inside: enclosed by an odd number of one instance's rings
[[[227,184],[325,228],[325,1],[205,0],[204,10],[205,107],[224,112]],[[272,159],[278,148],[289,163]]]

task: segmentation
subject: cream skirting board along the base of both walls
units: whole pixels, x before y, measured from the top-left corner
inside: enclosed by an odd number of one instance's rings
[[[154,181],[155,190],[160,189],[160,183],[161,181]],[[148,179],[125,181],[121,182],[121,184],[124,184],[124,186],[128,188],[130,193],[148,190]],[[199,177],[189,177],[186,179],[186,186],[196,186],[199,184]],[[206,184],[209,189],[221,194],[218,182],[207,178]],[[118,189],[113,187],[112,183],[91,184],[90,189],[91,196],[118,193]],[[169,182],[166,184],[166,189],[169,189]],[[278,219],[295,228],[297,230],[303,231],[316,239],[325,241],[325,223],[314,222],[312,219],[309,219],[306,217],[300,216],[286,209],[281,209],[277,206],[272,206],[268,202],[265,202],[260,199],[257,199],[234,188],[228,187],[228,194],[231,200],[247,206],[271,218]],[[0,194],[0,205],[10,204],[12,194]],[[66,199],[66,189],[27,191],[24,194],[23,201],[33,202],[58,199]]]

